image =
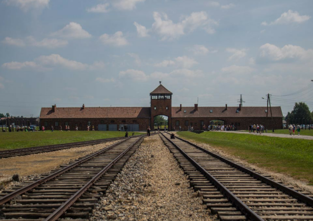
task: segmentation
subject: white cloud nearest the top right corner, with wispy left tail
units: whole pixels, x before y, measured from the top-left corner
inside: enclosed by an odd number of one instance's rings
[[[309,20],[311,17],[308,15],[299,15],[297,11],[293,12],[292,10],[288,10],[288,12],[284,12],[277,18],[274,22],[262,22],[261,25],[280,25],[280,24],[291,24],[291,23],[303,23]]]

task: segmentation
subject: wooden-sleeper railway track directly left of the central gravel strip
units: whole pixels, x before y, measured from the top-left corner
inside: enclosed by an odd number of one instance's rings
[[[88,218],[144,136],[131,136],[0,195],[0,220]],[[78,219],[78,220],[79,220]]]

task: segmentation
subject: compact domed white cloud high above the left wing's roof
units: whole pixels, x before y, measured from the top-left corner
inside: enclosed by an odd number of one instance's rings
[[[85,31],[80,24],[70,22],[64,28],[51,34],[62,38],[90,38],[91,34]]]

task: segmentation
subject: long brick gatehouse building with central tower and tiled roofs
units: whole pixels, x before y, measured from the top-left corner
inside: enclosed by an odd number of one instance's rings
[[[172,92],[160,85],[150,93],[150,107],[85,107],[80,108],[41,108],[40,125],[49,129],[58,129],[69,125],[71,130],[78,126],[79,130],[86,130],[87,125],[94,125],[96,130],[117,131],[122,126],[128,131],[146,131],[153,128],[154,117],[165,115],[168,117],[169,129],[187,130],[192,126],[194,130],[215,124],[214,120],[224,125],[234,125],[237,130],[247,130],[249,124],[266,125],[267,107],[172,107]],[[272,107],[274,129],[282,129],[283,114],[280,107]],[[268,113],[268,129],[272,129],[270,112]]]

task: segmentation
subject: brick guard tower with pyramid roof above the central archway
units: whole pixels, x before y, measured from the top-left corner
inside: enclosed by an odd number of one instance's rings
[[[154,117],[165,115],[168,117],[168,125],[172,125],[172,92],[167,90],[160,81],[160,85],[150,93],[151,98],[151,126]],[[169,128],[172,129],[172,128]]]

